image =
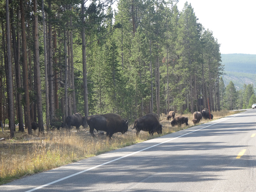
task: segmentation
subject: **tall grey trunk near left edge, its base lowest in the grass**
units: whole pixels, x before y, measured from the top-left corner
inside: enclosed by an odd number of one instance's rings
[[[7,43],[6,84],[7,84],[8,107],[9,107],[9,129],[10,129],[10,137],[13,138],[15,124],[14,124],[14,100],[13,100],[13,81],[12,81],[9,0],[6,0],[6,43]]]

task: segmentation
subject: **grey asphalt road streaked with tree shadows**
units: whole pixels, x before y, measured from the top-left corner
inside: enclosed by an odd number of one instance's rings
[[[256,109],[0,186],[1,192],[256,191]]]

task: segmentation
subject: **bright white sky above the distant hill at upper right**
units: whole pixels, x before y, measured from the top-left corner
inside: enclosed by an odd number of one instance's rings
[[[179,11],[186,1],[218,40],[220,53],[256,54],[256,0],[180,0]]]

